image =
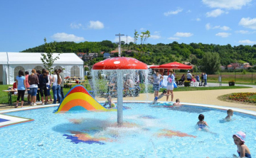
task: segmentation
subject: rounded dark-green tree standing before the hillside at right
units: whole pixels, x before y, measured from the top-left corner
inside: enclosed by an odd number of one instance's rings
[[[207,74],[215,74],[220,69],[220,55],[217,52],[206,52],[201,60],[200,69]]]

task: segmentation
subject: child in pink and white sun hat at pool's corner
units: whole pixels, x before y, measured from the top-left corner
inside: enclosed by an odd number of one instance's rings
[[[250,150],[248,147],[245,145],[245,133],[242,131],[237,132],[235,135],[233,135],[233,139],[235,142],[235,145],[238,146],[238,155],[239,157],[249,157],[251,158]],[[235,154],[234,154],[234,157]]]

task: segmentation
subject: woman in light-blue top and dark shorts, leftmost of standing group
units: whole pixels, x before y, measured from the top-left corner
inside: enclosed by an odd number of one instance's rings
[[[16,101],[15,108],[18,108],[18,101],[21,98],[21,108],[23,108],[24,94],[26,91],[26,78],[24,77],[24,72],[22,70],[18,71],[18,76],[16,77],[16,82],[18,85],[18,98]]]

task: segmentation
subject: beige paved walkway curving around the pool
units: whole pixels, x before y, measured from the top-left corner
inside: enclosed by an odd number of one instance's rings
[[[215,83],[208,83],[208,86],[218,86]],[[222,84],[222,86],[228,86],[228,84]],[[239,86],[251,86],[251,85],[239,85]],[[256,105],[247,105],[242,103],[230,103],[226,101],[218,100],[218,96],[225,94],[239,93],[239,92],[256,92],[256,86],[251,86],[250,89],[220,89],[220,90],[208,90],[208,91],[175,91],[174,89],[174,101],[179,98],[181,103],[201,103],[215,106],[228,106],[233,108],[242,108],[245,110],[256,111]],[[98,98],[97,101],[106,101],[106,98]],[[113,98],[113,101],[117,101],[117,98]],[[125,97],[124,101],[153,101],[154,94],[139,94],[138,97]],[[166,97],[159,99],[159,101],[166,101]],[[169,97],[171,101],[171,96]],[[14,104],[15,105],[15,104]],[[28,105],[24,105],[28,106]],[[7,105],[0,105],[0,111],[14,108]],[[20,106],[18,107],[20,108]]]

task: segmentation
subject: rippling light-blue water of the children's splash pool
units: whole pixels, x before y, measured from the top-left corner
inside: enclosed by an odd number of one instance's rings
[[[242,130],[256,155],[256,117],[196,106],[169,108],[124,103],[124,125],[117,112],[55,114],[57,107],[6,113],[34,119],[0,128],[0,157],[232,157],[232,135]],[[205,115],[209,132],[196,128]]]

